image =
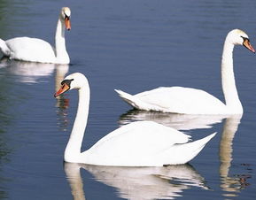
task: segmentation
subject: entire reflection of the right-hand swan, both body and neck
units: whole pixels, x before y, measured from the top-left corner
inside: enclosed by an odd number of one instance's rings
[[[225,119],[226,118],[226,119]],[[223,129],[220,141],[220,177],[223,196],[237,196],[242,188],[249,185],[248,179],[251,175],[248,173],[230,175],[232,162],[233,139],[240,124],[242,115],[185,115],[164,112],[144,112],[131,110],[120,116],[120,126],[136,120],[153,120],[169,127],[175,127],[178,130],[191,130],[197,128],[210,128],[214,124],[220,123],[223,119]],[[241,164],[246,166],[250,164]],[[248,170],[248,169],[245,169]],[[249,169],[250,170],[250,169]]]

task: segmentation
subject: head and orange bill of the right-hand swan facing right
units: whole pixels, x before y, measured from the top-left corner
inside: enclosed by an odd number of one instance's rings
[[[227,35],[226,40],[234,45],[243,45],[245,48],[255,53],[255,50],[250,43],[249,36],[240,29],[231,30]]]

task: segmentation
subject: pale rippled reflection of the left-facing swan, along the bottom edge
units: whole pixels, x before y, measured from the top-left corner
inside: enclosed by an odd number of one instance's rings
[[[120,167],[65,163],[64,169],[74,199],[85,199],[80,169],[87,170],[96,181],[116,188],[127,199],[172,199],[184,189],[208,189],[204,178],[191,165],[161,167]]]

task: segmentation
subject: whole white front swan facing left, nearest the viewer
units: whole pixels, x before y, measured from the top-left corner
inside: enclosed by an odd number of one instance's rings
[[[152,121],[137,121],[120,127],[81,152],[89,114],[89,83],[81,73],[68,75],[55,97],[76,88],[79,103],[74,127],[66,145],[64,160],[71,163],[119,166],[178,165],[198,155],[213,136],[189,142],[190,135]]]

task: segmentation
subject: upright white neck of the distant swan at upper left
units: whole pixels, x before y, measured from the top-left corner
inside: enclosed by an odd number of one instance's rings
[[[55,33],[55,50],[56,59],[58,63],[69,63],[69,57],[66,52],[66,41],[65,41],[65,25],[61,19],[58,19],[57,28]]]

